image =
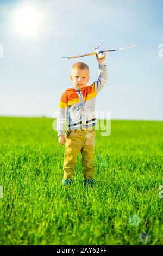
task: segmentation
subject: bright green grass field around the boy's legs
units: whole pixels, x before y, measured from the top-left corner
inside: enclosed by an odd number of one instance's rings
[[[80,182],[80,155],[74,184],[61,184],[52,123],[0,117],[0,244],[162,245],[163,122],[113,120],[109,137],[96,131],[93,188]]]

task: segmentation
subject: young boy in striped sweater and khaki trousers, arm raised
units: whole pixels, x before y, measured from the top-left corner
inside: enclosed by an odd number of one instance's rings
[[[64,145],[64,185],[72,184],[77,155],[82,153],[82,166],[84,184],[93,185],[93,151],[95,142],[96,124],[95,99],[107,80],[107,70],[104,58],[96,55],[99,64],[98,80],[87,86],[89,82],[89,67],[83,62],[77,62],[72,66],[70,80],[74,87],[69,87],[62,93],[57,115],[58,142]],[[65,133],[65,120],[68,130]]]

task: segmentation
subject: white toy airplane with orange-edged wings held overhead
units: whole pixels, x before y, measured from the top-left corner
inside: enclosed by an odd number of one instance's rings
[[[126,47],[122,47],[122,48],[100,51],[99,49],[100,49],[100,47],[102,46],[103,42],[104,42],[104,39],[102,40],[101,44],[100,44],[97,48],[93,47],[93,46],[90,45],[90,44],[87,44],[87,42],[86,42],[87,45],[89,45],[91,48],[93,48],[93,50],[95,50],[95,52],[93,52],[93,53],[80,54],[80,55],[78,55],[78,56],[62,57],[62,58],[64,58],[64,59],[73,59],[73,58],[79,58],[79,57],[84,57],[84,56],[90,56],[90,55],[97,54],[98,58],[102,59],[102,58],[104,58],[104,52],[111,52],[111,51],[124,50],[124,49],[127,49],[127,48],[133,48],[133,47],[136,46],[136,44],[134,44],[134,45],[126,46]]]

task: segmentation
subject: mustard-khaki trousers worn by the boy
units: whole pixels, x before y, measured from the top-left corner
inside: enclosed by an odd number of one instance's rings
[[[71,133],[70,133],[71,132]],[[93,179],[93,153],[96,132],[94,130],[67,130],[64,154],[64,180],[72,179],[77,155],[82,153],[84,179]]]

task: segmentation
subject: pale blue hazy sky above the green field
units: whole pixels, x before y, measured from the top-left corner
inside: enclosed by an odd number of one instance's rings
[[[23,33],[16,29],[15,15],[24,6],[39,17],[35,33],[23,24]],[[108,82],[96,111],[110,111],[111,119],[163,120],[162,9],[161,0],[0,0],[0,115],[54,116],[62,92],[73,86],[75,62],[89,65],[90,83],[98,77],[95,56],[61,57],[92,52],[85,41],[98,46],[104,38],[103,50],[137,46],[106,53]]]

